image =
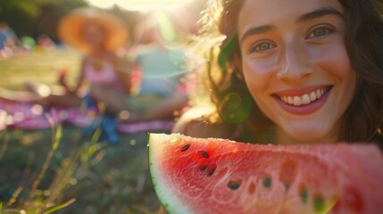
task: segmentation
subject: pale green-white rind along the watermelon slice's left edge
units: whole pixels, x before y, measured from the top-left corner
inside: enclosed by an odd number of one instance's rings
[[[152,182],[154,185],[155,193],[157,194],[160,202],[162,203],[163,208],[169,213],[182,213],[188,214],[193,213],[191,210],[186,210],[186,207],[182,206],[182,203],[174,197],[174,194],[171,192],[168,186],[165,184],[164,176],[162,176],[161,170],[158,169],[158,165],[153,160],[158,160],[156,155],[161,152],[154,152],[156,146],[161,144],[166,144],[171,140],[171,136],[166,134],[149,134],[149,166],[150,174],[152,177]],[[153,144],[155,142],[155,144]],[[157,175],[157,177],[154,177]]]

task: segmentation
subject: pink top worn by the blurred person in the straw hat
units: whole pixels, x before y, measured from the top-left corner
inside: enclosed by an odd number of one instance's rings
[[[105,63],[101,70],[95,70],[91,63],[85,65],[85,79],[90,85],[101,85],[123,91],[124,87],[110,63]]]

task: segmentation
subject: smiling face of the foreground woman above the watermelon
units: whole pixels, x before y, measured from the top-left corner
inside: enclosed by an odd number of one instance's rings
[[[242,70],[277,143],[332,142],[356,75],[337,0],[246,0],[238,17]]]

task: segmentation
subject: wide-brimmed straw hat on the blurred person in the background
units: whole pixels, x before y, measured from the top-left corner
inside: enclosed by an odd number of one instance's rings
[[[116,16],[92,8],[78,8],[64,16],[58,23],[57,34],[62,42],[88,52],[91,48],[82,37],[87,21],[96,21],[105,29],[105,49],[116,51],[128,40],[128,30]]]

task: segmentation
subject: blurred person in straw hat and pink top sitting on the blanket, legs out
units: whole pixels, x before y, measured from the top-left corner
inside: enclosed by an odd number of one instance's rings
[[[58,78],[59,89],[29,82],[26,83],[29,92],[2,90],[0,96],[12,101],[40,104],[46,110],[51,107],[96,108],[105,115],[101,123],[95,120],[89,125],[86,135],[91,135],[101,126],[104,137],[117,143],[115,117],[128,108],[124,97],[129,96],[131,88],[132,63],[118,54],[129,37],[124,22],[111,13],[78,8],[62,17],[57,31],[63,44],[83,53],[75,86],[67,84],[66,71],[62,70]]]

